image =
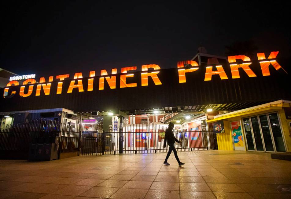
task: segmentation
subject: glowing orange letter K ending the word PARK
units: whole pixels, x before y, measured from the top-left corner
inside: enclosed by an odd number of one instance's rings
[[[276,52],[271,52],[268,59],[275,59],[278,55],[279,51],[276,51]],[[257,53],[257,56],[258,56],[258,60],[265,60],[266,59],[266,56],[265,56],[265,53]],[[263,73],[263,76],[269,76],[270,75],[270,70],[269,70],[269,66],[270,64],[272,64],[272,66],[278,71],[280,68],[282,68],[280,66],[280,64],[276,61],[276,60],[270,60],[270,61],[260,61],[260,65],[261,65],[261,70],[262,70],[262,73]],[[283,71],[284,68],[282,68]],[[287,73],[285,71],[285,73]]]

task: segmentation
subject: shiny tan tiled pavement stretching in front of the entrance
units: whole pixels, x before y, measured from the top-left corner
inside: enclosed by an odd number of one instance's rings
[[[291,162],[268,153],[178,152],[0,160],[0,198],[291,198]]]

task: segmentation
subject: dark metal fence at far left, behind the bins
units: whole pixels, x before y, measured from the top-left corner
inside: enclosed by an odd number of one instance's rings
[[[80,131],[53,120],[32,120],[0,131],[2,158],[28,157],[31,144],[52,143],[59,137],[59,154],[79,151]]]

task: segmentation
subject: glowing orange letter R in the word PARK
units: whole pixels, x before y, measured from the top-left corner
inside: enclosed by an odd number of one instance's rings
[[[248,56],[245,56],[245,55],[228,56],[229,63],[234,63],[236,62],[236,60],[239,60],[239,59],[243,61],[251,60]],[[237,63],[230,64],[232,78],[233,79],[240,78],[238,68],[242,68],[249,77],[256,77],[256,74],[249,67],[251,63],[252,62],[241,63],[241,64],[237,64]]]

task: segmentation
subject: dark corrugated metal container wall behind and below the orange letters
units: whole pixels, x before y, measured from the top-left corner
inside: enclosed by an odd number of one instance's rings
[[[289,70],[288,60],[278,63]],[[178,70],[160,70],[158,77],[162,85],[154,85],[149,78],[149,86],[141,86],[141,72],[134,72],[134,78],[127,83],[137,83],[137,87],[119,88],[120,74],[116,76],[116,89],[110,89],[105,81],[104,90],[98,90],[99,77],[94,78],[93,91],[87,91],[88,78],[83,78],[84,92],[73,89],[66,93],[71,80],[63,83],[62,94],[56,94],[57,81],[52,82],[50,95],[35,96],[36,86],[29,97],[20,97],[20,86],[11,87],[17,94],[10,98],[1,97],[0,111],[35,110],[46,108],[67,108],[77,111],[129,110],[151,107],[176,107],[201,104],[239,103],[291,99],[290,75],[282,69],[276,71],[270,66],[271,76],[262,76],[258,61],[252,61],[250,68],[257,77],[249,78],[242,69],[241,78],[232,79],[229,64],[223,65],[229,79],[221,80],[218,75],[212,81],[204,81],[206,67],[186,74],[186,83],[179,83]],[[99,71],[96,71],[98,74]],[[38,76],[39,78],[40,76]],[[38,79],[37,79],[38,80]],[[27,86],[28,87],[28,86]],[[27,92],[26,88],[26,92]],[[3,89],[1,90],[3,93]]]

